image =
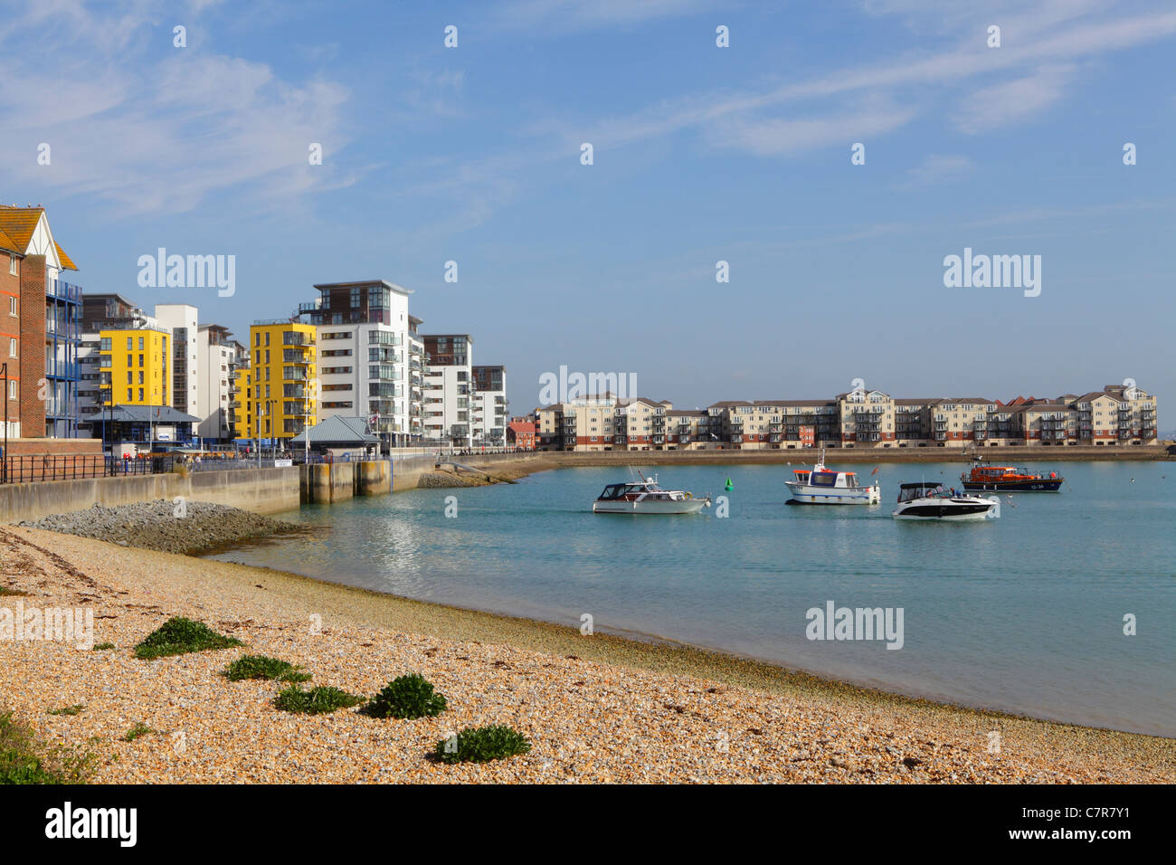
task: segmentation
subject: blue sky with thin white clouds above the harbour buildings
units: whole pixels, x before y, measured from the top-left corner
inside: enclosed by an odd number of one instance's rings
[[[5,8],[0,201],[87,292],[243,339],[387,279],[519,414],[566,366],[679,407],[1131,378],[1176,427],[1170,0]],[[140,287],[159,247],[235,292]],[[965,248],[1040,293],[946,285]]]

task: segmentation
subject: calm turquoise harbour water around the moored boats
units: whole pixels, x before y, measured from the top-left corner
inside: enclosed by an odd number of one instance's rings
[[[1057,468],[1061,493],[1002,495],[1001,519],[957,524],[890,511],[900,481],[957,484],[958,463],[883,465],[883,504],[840,508],[786,506],[786,466],[657,470],[668,488],[726,494],[728,518],[593,514],[600,490],[627,473],[564,468],[306,507],[286,515],[322,531],[214,558],[576,627],[589,613],[601,631],[1176,736],[1176,465]],[[901,607],[902,647],[808,639],[806,612],[830,600]],[[1136,636],[1124,636],[1125,614]]]

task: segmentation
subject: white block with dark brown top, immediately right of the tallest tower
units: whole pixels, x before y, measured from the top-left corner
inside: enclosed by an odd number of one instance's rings
[[[468,333],[422,334],[423,420],[430,444],[473,445],[474,340]]]

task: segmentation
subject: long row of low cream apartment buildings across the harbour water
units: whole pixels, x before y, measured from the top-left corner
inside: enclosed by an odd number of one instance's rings
[[[860,390],[831,400],[724,400],[694,411],[606,394],[536,408],[535,424],[541,450],[1114,447],[1158,440],[1155,398],[1121,385],[1007,404]]]

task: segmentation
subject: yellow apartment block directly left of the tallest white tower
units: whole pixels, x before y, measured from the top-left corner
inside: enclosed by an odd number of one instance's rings
[[[236,431],[239,441],[288,444],[319,422],[316,330],[289,319],[254,321],[249,327],[249,368],[241,400],[247,422]]]

